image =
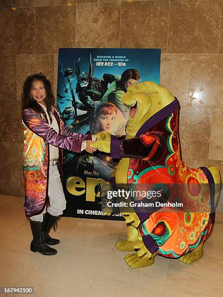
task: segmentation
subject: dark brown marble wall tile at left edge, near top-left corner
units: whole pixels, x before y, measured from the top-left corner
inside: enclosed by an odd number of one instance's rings
[[[35,52],[34,15],[34,8],[0,11],[1,55]]]

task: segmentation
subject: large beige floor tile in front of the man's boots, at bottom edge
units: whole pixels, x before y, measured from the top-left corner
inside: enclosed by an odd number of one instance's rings
[[[58,253],[51,257],[40,255],[32,271],[17,285],[33,286],[38,297],[86,296],[108,253],[88,249],[87,245],[84,249],[61,243],[54,248]]]

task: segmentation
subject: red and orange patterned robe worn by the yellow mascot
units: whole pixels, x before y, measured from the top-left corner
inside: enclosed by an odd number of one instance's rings
[[[181,160],[178,111],[175,99],[150,117],[134,138],[111,140],[112,157],[129,158],[126,175],[123,171],[116,174],[116,184],[126,182],[130,189],[138,183],[147,190],[150,184],[158,184],[156,190],[166,188],[162,197],[165,202],[183,202],[181,209],[159,207],[159,211],[149,212],[142,206],[134,208],[145,247],[169,258],[178,258],[205,241],[213,222],[215,195],[210,171],[206,167],[190,168]],[[143,202],[151,201],[144,198]]]

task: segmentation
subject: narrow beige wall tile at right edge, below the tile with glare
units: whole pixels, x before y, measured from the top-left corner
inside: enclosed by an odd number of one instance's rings
[[[213,108],[208,158],[223,160],[223,109]]]

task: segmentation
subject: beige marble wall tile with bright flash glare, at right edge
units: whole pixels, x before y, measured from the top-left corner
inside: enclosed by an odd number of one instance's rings
[[[192,55],[190,106],[223,108],[223,55]]]

